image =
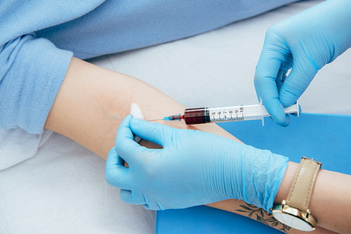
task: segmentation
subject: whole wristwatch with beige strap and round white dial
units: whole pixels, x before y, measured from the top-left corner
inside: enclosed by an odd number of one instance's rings
[[[308,205],[321,166],[322,163],[303,156],[293,178],[288,198],[272,208],[275,219],[298,230],[315,229],[317,220],[311,215]]]

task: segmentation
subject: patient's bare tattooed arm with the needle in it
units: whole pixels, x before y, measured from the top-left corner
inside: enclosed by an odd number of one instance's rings
[[[48,115],[45,128],[73,139],[106,159],[107,153],[114,146],[119,124],[130,113],[133,102],[140,106],[146,120],[182,113],[185,109],[185,106],[143,81],[73,58]],[[190,126],[185,125],[183,121],[160,123],[173,128],[212,132],[238,141],[215,124]],[[145,141],[140,144],[155,146]],[[294,167],[291,167],[291,163],[289,163],[289,168],[293,173]],[[286,184],[289,184],[289,178],[284,177],[288,181]],[[284,189],[282,192],[279,190],[283,198],[284,191]],[[289,227],[284,227],[282,223],[274,221],[271,215],[263,210],[261,212],[261,209],[246,205],[241,200],[225,200],[210,206],[250,216],[274,228],[284,228],[284,231],[288,233],[299,233],[292,228],[289,230]],[[251,214],[249,209],[257,210],[257,212]],[[321,233],[326,231],[323,228],[319,230]]]

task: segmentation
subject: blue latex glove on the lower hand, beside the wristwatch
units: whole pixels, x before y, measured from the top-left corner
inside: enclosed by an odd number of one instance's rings
[[[147,149],[133,132],[163,149]],[[124,160],[129,167],[124,167]],[[287,160],[208,132],[181,130],[127,116],[106,162],[107,183],[121,200],[147,209],[176,209],[230,198],[266,210],[273,205]]]

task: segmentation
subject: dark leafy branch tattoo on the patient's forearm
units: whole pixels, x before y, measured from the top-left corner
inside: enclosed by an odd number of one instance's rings
[[[249,213],[249,218],[255,219],[256,216],[256,221],[259,221],[261,223],[264,223],[268,226],[272,226],[273,228],[277,228],[278,230],[282,230],[284,233],[289,233],[289,226],[286,226],[285,224],[277,221],[273,217],[273,215],[270,212],[265,211],[262,208],[258,208],[254,205],[247,204],[246,205],[240,205],[241,208],[243,209],[235,209],[237,212],[245,212]]]

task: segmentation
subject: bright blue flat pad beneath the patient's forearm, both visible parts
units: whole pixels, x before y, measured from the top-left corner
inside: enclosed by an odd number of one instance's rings
[[[351,174],[351,116],[303,113],[287,128],[270,118],[218,124],[245,144],[269,149],[299,163],[302,156],[322,168]],[[156,233],[282,233],[239,214],[206,206],[157,212]]]

